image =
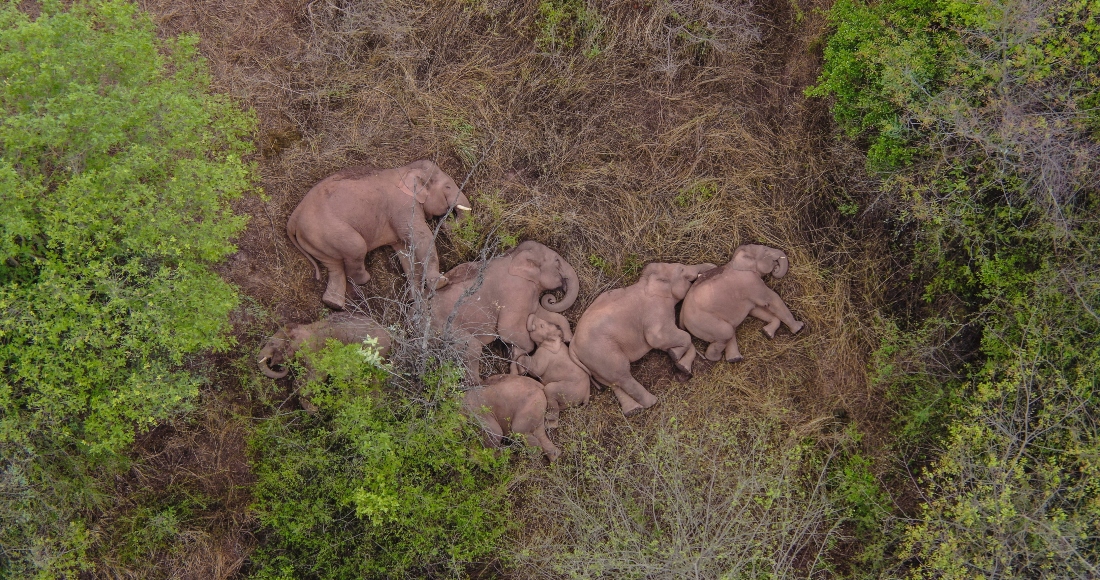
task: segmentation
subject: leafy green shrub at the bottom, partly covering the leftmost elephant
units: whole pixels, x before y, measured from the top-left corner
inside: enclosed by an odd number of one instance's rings
[[[436,374],[451,396],[422,405],[386,393],[370,347],[304,354],[301,393],[317,416],[283,413],[251,441],[254,510],[265,541],[258,578],[463,576],[498,549],[508,521],[507,457],[459,412],[460,374]]]

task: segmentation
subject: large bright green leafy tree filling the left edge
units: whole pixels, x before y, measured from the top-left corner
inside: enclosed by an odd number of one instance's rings
[[[128,2],[0,8],[0,576],[87,567],[74,510],[136,430],[187,408],[222,350],[210,270],[244,219],[254,120],[196,39]]]

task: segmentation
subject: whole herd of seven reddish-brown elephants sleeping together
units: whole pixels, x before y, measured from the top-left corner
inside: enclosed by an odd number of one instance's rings
[[[576,329],[561,314],[576,300],[576,271],[546,245],[525,241],[488,261],[468,262],[441,274],[429,217],[462,220],[470,200],[435,163],[417,161],[391,169],[352,167],[310,189],[287,221],[294,245],[309,260],[317,280],[328,271],[321,298],[344,310],[346,281],[365,284],[367,252],[392,247],[409,282],[432,292],[432,330],[453,337],[465,350],[466,377],[473,387],[463,408],[483,427],[487,445],[505,435],[537,445],[552,461],[560,451],[547,435],[563,407],[583,406],[591,383],[609,386],[627,416],[657,403],[630,374],[630,363],[652,349],[669,353],[676,369],[691,374],[696,351],[692,336],[710,342],[708,360],[741,360],[736,330],[746,317],[765,322],[772,338],[780,324],[792,333],[803,322],[763,276],[782,277],[787,255],[766,245],[741,245],[723,266],[650,263],[631,286],[605,292],[581,315]],[[556,299],[551,292],[561,291]],[[680,324],[675,306],[683,302]],[[689,333],[690,332],[690,333]],[[375,338],[385,355],[391,337],[366,315],[341,311],[310,325],[288,325],[260,352],[260,369],[282,379],[279,365],[302,347],[328,339],[344,343]],[[510,372],[481,377],[484,346],[494,340],[510,349]],[[525,376],[528,375],[528,376]],[[538,379],[531,379],[531,376]]]

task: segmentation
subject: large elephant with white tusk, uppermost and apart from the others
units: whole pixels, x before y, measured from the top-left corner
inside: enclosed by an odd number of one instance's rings
[[[324,264],[329,281],[321,302],[342,310],[345,276],[366,284],[366,253],[383,245],[397,252],[414,284],[422,273],[429,286],[446,286],[427,218],[455,211],[461,220],[470,209],[454,179],[428,160],[392,169],[349,167],[321,179],[301,198],[286,234],[312,264],[317,280],[318,262]]]

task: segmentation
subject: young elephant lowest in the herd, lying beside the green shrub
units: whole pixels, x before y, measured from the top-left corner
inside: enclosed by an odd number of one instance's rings
[[[534,379],[490,376],[485,386],[466,391],[462,406],[482,424],[486,447],[499,448],[505,435],[518,434],[527,445],[541,448],[550,461],[561,455],[547,435],[547,397]]]

